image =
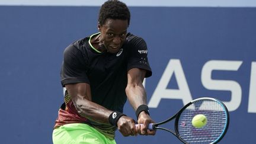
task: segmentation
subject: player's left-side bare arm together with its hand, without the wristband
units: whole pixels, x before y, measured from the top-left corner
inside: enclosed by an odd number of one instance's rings
[[[71,95],[76,110],[81,116],[97,121],[98,123],[109,123],[108,117],[113,111],[91,101],[91,88],[89,84],[68,84],[65,87],[69,95]],[[135,135],[136,133],[134,120],[127,116],[121,116],[117,122],[117,127],[123,136]]]

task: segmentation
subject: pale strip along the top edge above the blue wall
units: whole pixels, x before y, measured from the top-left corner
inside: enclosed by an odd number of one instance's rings
[[[0,5],[100,6],[105,0],[0,0]],[[130,7],[256,7],[256,0],[123,0]]]

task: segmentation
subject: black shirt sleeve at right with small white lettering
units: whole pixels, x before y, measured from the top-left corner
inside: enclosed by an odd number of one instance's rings
[[[146,78],[152,75],[148,62],[148,47],[141,37],[134,37],[129,41],[129,57],[127,60],[127,71],[132,68],[146,70]]]

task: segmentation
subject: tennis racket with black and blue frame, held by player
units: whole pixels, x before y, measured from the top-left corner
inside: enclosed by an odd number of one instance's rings
[[[191,123],[194,116],[203,114],[207,123],[200,128]],[[174,130],[160,127],[175,119]],[[225,104],[215,98],[197,98],[186,104],[177,114],[160,123],[151,123],[150,130],[161,129],[172,133],[183,143],[217,143],[226,134],[229,126],[229,113]]]

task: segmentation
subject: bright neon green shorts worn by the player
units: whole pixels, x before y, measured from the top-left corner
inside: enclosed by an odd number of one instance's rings
[[[60,126],[53,130],[52,139],[54,144],[116,144],[115,140],[108,139],[98,130],[84,123],[71,123]]]

